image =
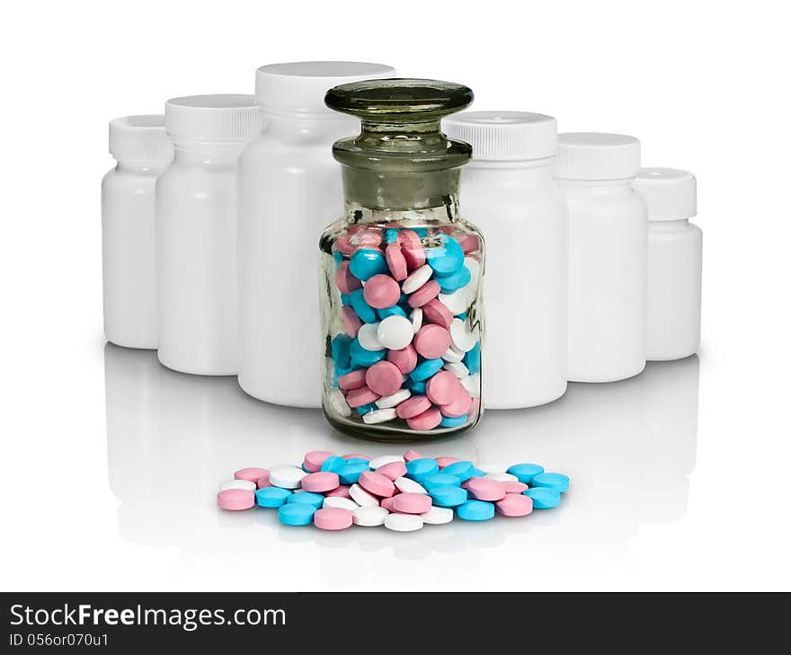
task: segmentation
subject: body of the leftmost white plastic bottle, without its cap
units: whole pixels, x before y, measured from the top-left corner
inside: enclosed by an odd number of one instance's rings
[[[102,179],[104,335],[155,349],[156,178],[167,161],[120,161]]]

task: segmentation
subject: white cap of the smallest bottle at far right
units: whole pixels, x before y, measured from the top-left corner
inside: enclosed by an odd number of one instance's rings
[[[677,168],[641,168],[633,182],[648,206],[648,220],[677,221],[698,213],[698,182]]]

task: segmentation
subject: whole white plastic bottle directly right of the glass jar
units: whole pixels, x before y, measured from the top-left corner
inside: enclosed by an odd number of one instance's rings
[[[486,242],[484,403],[513,409],[564,394],[568,219],[552,179],[557,122],[519,111],[444,119],[473,146],[459,205]]]

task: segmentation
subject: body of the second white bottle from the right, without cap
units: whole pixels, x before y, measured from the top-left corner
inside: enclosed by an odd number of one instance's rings
[[[630,180],[558,184],[569,210],[569,380],[635,376],[645,367],[644,201]]]

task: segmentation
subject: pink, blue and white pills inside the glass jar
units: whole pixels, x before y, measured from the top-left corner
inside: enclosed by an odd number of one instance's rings
[[[330,343],[328,411],[421,432],[475,422],[480,250],[454,226],[350,226],[337,238],[342,332]]]

